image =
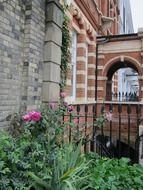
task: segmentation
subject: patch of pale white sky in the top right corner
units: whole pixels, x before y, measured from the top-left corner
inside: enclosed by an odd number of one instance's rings
[[[143,28],[143,0],[130,0],[133,17],[134,32]]]

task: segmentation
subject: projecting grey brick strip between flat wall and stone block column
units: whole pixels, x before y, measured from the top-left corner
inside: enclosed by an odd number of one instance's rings
[[[22,108],[36,109],[41,103],[45,36],[45,0],[27,0],[23,43]]]

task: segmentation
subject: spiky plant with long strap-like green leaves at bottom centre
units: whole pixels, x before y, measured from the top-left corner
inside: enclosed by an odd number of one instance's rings
[[[74,148],[70,144],[57,151],[49,179],[41,179],[31,172],[29,176],[35,182],[36,190],[37,187],[47,190],[80,190],[86,188],[88,165],[89,162],[80,154],[80,145]]]

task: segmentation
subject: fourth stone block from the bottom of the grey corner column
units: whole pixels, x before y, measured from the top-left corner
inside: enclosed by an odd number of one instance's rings
[[[59,46],[62,45],[62,31],[55,23],[47,23],[45,41],[53,41]]]

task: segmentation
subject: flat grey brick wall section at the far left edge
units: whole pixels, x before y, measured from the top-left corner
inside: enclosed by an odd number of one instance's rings
[[[24,23],[23,3],[0,2],[0,120],[20,108]]]

